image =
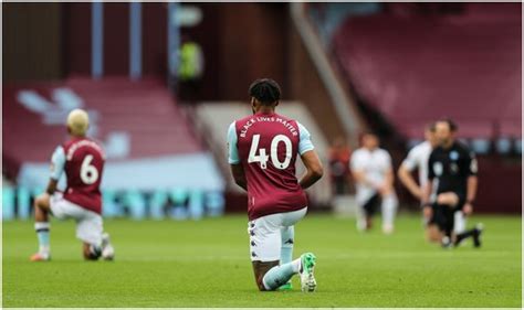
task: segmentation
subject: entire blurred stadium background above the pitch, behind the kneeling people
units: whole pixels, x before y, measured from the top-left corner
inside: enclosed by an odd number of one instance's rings
[[[245,212],[226,132],[272,77],[327,173],[311,210],[352,215],[376,130],[398,168],[451,117],[479,157],[479,213],[521,213],[521,3],[2,3],[2,218],[29,218],[74,108],[108,154],[104,216]],[[302,171],[302,167],[298,171]],[[62,180],[63,181],[63,180]],[[400,211],[418,202],[398,180]]]

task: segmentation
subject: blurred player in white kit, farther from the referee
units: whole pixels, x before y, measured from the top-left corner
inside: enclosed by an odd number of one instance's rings
[[[357,228],[366,231],[371,227],[371,218],[378,205],[382,212],[382,232],[394,232],[395,213],[398,205],[394,189],[391,157],[378,147],[375,133],[363,136],[363,147],[356,150],[350,160],[352,173],[356,181],[356,200],[359,205]]]

